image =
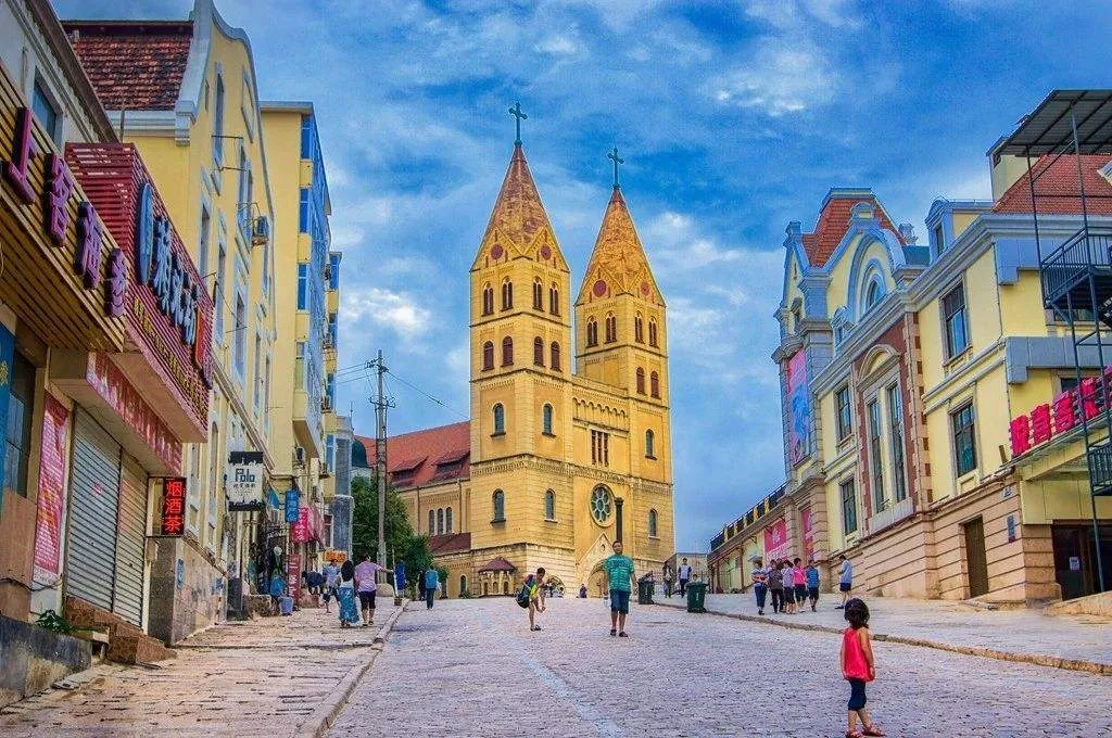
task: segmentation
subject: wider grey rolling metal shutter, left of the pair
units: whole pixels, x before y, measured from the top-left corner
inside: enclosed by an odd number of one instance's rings
[[[75,408],[66,594],[112,609],[120,447]]]

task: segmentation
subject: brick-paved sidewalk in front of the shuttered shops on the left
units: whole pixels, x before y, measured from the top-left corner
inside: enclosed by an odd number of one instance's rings
[[[400,612],[380,601],[375,628],[340,629],[335,607],[217,626],[158,668],[96,666],[75,675],[72,688],[6,708],[0,735],[317,735]]]

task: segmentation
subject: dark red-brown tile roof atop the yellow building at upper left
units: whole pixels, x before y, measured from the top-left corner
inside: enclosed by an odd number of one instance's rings
[[[191,21],[64,21],[107,110],[173,110],[189,60]]]

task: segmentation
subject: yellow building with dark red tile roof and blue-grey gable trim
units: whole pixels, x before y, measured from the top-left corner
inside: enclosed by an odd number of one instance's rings
[[[230,455],[258,463],[248,496],[261,508],[275,468],[269,437],[276,337],[276,208],[247,34],[211,0],[188,20],[67,21],[108,118],[132,143],[212,296],[212,388],[203,442],[182,449],[185,531],[152,531],[152,635],[173,642],[218,621],[229,579],[258,585],[254,561],[285,529],[226,505]],[[292,215],[286,216],[292,218]],[[267,369],[269,368],[269,369]],[[156,506],[161,502],[156,502]],[[271,518],[275,513],[271,513]]]

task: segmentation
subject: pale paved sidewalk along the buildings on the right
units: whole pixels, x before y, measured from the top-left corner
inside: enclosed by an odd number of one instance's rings
[[[657,605],[685,607],[679,597],[655,596]],[[818,611],[757,616],[753,595],[707,595],[706,609],[744,620],[790,628],[841,632],[841,596],[823,592]],[[870,629],[877,640],[1024,661],[1060,669],[1112,675],[1112,621],[1091,616],[1054,616],[1037,610],[982,610],[950,600],[867,598]]]

